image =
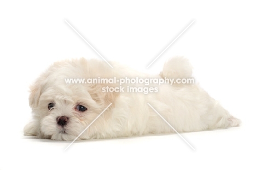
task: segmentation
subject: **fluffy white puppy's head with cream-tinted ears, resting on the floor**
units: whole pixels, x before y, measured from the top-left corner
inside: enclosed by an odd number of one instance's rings
[[[55,140],[75,139],[118,93],[102,92],[106,84],[67,83],[65,79],[110,78],[112,70],[101,61],[84,58],[56,62],[31,86],[30,107],[34,120],[24,128],[25,135]],[[113,107],[113,105],[112,105]],[[80,138],[97,138],[108,122],[108,108]]]

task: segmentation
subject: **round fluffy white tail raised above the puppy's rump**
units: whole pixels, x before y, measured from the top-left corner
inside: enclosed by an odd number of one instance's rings
[[[183,56],[172,57],[165,62],[164,68],[160,73],[162,78],[190,78],[192,76],[193,67],[189,60]]]

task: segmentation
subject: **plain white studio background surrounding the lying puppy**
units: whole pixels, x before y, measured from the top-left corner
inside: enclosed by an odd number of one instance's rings
[[[250,1],[0,2],[0,169],[254,169],[255,4]],[[8,2],[8,3],[7,3]],[[101,58],[158,74],[184,55],[210,95],[242,120],[227,130],[69,142],[24,137],[28,86],[51,63]],[[146,67],[181,33],[148,69]],[[254,158],[253,158],[254,157]]]

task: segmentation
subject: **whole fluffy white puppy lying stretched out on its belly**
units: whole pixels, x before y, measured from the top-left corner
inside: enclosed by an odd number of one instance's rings
[[[173,57],[160,75],[150,76],[132,71],[118,63],[97,60],[55,62],[31,86],[30,107],[33,121],[24,127],[25,135],[54,140],[73,140],[95,118],[109,108],[78,138],[115,138],[150,133],[203,131],[238,126],[217,101],[197,84],[117,84],[66,83],[65,79],[108,78],[168,79],[191,78],[192,67],[187,59]],[[119,92],[109,92],[106,87]],[[137,92],[128,92],[136,87]],[[151,87],[151,89],[150,89]],[[150,89],[150,90],[149,90]],[[134,89],[133,89],[134,90]],[[136,89],[135,89],[136,90]],[[131,91],[131,90],[130,90]],[[148,104],[149,103],[149,104]]]

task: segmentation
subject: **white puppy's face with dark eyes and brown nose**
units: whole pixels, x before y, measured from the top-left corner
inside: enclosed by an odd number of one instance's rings
[[[42,93],[34,111],[40,114],[40,137],[73,140],[100,114],[101,106],[86,86],[53,85]]]

